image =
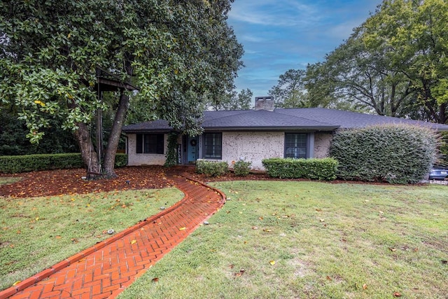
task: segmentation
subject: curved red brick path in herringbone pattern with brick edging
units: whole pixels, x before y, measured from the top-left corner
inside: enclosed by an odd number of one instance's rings
[[[203,183],[167,176],[185,194],[181,202],[1,291],[0,299],[116,298],[225,202]]]

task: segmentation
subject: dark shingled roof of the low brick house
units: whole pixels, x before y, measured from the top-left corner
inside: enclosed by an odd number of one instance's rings
[[[202,127],[211,130],[323,130],[348,129],[386,123],[421,125],[435,130],[448,131],[448,125],[426,123],[419,120],[391,118],[351,111],[325,108],[205,111]],[[154,120],[126,125],[123,132],[169,132],[172,127],[166,120]]]

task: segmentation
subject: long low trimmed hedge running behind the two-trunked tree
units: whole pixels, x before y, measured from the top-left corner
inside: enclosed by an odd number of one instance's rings
[[[115,166],[124,167],[126,165],[127,155],[125,153],[117,153]],[[0,156],[0,172],[7,174],[83,167],[84,164],[80,153]]]

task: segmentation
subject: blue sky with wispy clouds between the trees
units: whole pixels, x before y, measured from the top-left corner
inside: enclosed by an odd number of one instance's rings
[[[237,90],[264,96],[288,69],[305,69],[348,39],[381,0],[235,0],[228,23],[244,46]]]

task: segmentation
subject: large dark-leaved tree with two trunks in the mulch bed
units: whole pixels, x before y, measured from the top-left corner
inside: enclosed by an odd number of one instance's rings
[[[115,176],[131,102],[195,134],[203,99],[232,89],[243,50],[226,22],[231,2],[1,1],[0,101],[18,106],[31,142],[50,119],[64,120],[88,172]],[[116,99],[98,97],[99,69],[113,74]],[[102,167],[90,128],[107,109],[115,116]]]

